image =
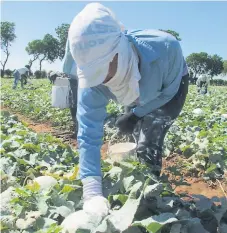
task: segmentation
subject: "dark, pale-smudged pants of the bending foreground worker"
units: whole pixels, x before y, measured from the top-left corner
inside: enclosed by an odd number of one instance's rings
[[[159,176],[162,168],[164,138],[180,114],[188,93],[189,76],[182,77],[177,94],[164,106],[144,116],[136,124],[133,136],[137,143],[137,157],[142,164],[152,168]],[[126,111],[130,109],[127,108]]]

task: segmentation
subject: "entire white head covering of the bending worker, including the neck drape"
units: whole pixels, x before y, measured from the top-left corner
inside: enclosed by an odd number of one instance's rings
[[[80,88],[103,83],[118,53],[117,73],[105,85],[120,103],[127,105],[138,98],[141,77],[138,56],[122,30],[122,24],[108,8],[90,3],[74,18],[68,37]]]

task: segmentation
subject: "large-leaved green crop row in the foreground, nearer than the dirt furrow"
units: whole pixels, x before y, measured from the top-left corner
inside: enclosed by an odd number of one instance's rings
[[[82,186],[76,179],[78,154],[51,135],[32,132],[9,112],[3,111],[0,119],[1,231],[62,232],[64,218],[82,208]],[[112,212],[90,225],[92,232],[192,233],[191,229],[217,228],[225,232],[224,198],[215,199],[222,203],[219,207],[202,196],[184,200],[184,195],[177,195],[168,183],[157,181],[148,168],[132,161],[103,162],[102,171]],[[44,175],[44,180],[36,180]]]

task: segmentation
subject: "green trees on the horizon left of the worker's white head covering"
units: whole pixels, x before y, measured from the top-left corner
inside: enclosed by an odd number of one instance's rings
[[[43,73],[43,61],[52,63],[57,59],[63,59],[69,26],[69,24],[62,24],[55,28],[55,32],[57,34],[56,38],[51,34],[46,34],[42,39],[33,40],[28,43],[25,51],[28,53],[28,55],[30,55],[30,59],[26,65],[29,70],[31,70],[35,61],[39,61],[39,72],[36,71],[36,73],[41,74]],[[1,49],[5,54],[5,60],[1,61],[1,77],[4,75],[10,75],[12,72],[11,70],[6,70],[5,68],[10,56],[10,47],[16,38],[15,23],[1,22]]]

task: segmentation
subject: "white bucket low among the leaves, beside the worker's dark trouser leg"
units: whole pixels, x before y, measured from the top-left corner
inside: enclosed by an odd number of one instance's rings
[[[136,160],[136,143],[117,143],[109,147],[108,159],[112,162],[122,162],[128,159]]]

